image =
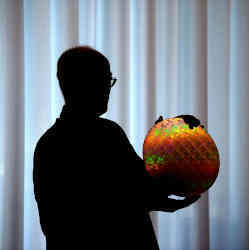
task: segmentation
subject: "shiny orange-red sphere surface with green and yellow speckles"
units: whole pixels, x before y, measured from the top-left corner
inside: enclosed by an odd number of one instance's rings
[[[155,124],[143,144],[146,170],[153,178],[168,176],[182,183],[175,195],[201,194],[215,182],[219,153],[211,136],[201,126],[190,129],[182,118]]]

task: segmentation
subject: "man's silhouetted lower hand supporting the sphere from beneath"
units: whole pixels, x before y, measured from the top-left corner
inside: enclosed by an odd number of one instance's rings
[[[193,195],[187,196],[184,200],[176,200],[172,198],[164,199],[161,197],[161,201],[159,202],[160,205],[153,207],[151,211],[161,211],[161,212],[170,212],[173,213],[179,209],[188,207],[189,205],[193,204],[197,200],[199,200],[201,195]]]

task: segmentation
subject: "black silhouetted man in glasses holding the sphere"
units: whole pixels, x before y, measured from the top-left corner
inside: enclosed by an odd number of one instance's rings
[[[156,195],[124,130],[99,117],[116,81],[104,55],[88,46],[69,49],[57,77],[65,105],[37,142],[33,169],[47,249],[159,249],[149,212],[173,212],[199,197]]]

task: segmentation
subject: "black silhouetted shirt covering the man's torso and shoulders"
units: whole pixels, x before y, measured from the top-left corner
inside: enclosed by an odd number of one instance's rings
[[[47,249],[159,249],[143,159],[117,123],[80,116],[62,112],[34,152]]]

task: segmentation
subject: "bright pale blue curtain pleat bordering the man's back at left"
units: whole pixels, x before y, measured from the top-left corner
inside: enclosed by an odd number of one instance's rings
[[[33,194],[33,154],[39,137],[51,124],[50,2],[24,1],[25,171],[24,249],[44,249]],[[42,32],[41,32],[42,31]]]

